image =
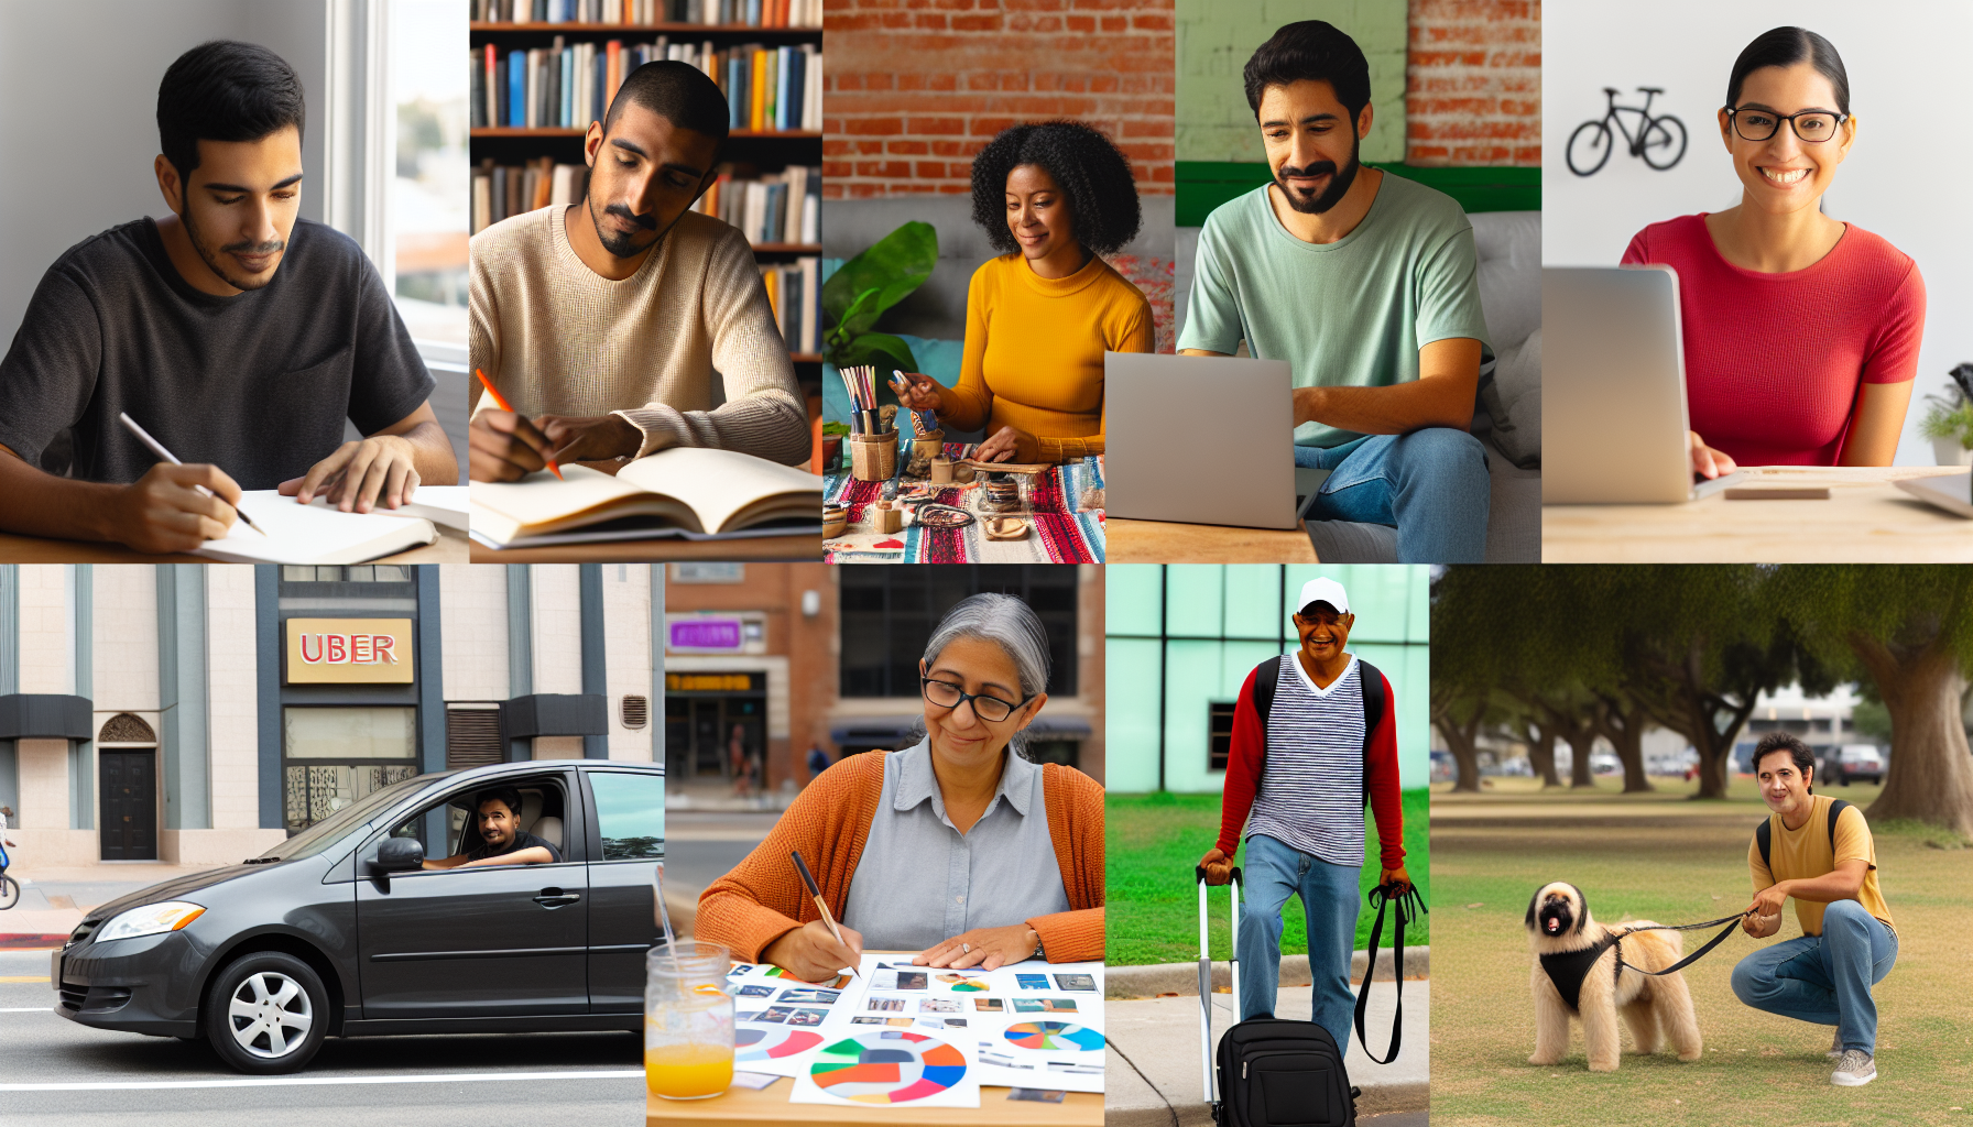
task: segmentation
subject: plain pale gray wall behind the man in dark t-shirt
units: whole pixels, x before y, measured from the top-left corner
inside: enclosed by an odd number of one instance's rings
[[[288,59],[308,93],[302,215],[322,219],[326,0],[0,4],[0,353],[36,284],[83,239],[168,207],[152,174],[158,83],[207,39]],[[81,51],[81,53],[79,53]]]

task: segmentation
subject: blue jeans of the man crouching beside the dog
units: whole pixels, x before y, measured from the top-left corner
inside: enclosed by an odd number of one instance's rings
[[[1762,947],[1732,969],[1732,993],[1795,1020],[1833,1024],[1843,1048],[1876,1052],[1870,985],[1898,961],[1898,936],[1855,900],[1823,908],[1823,934]]]

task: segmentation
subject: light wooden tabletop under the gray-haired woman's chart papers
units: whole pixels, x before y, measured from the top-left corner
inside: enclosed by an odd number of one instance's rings
[[[915,955],[917,951],[888,953]],[[738,1068],[738,1072],[746,1072],[746,1068]],[[789,1103],[787,1095],[793,1089],[795,1082],[779,1076],[767,1088],[752,1089],[736,1084],[710,1099],[665,1099],[645,1091],[643,1121],[645,1127],[732,1127],[734,1123],[1101,1127],[1103,1123],[1103,1093],[1099,1091],[1069,1091],[1061,1103],[1044,1103],[1008,1099],[1010,1088],[983,1084],[979,1107],[913,1107],[910,1103],[839,1107],[833,1103]]]

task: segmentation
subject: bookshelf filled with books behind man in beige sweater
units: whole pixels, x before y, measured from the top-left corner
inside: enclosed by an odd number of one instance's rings
[[[821,0],[470,0],[472,229],[582,199],[582,138],[651,59],[710,75],[732,109],[694,209],[754,247],[781,336],[821,385]]]

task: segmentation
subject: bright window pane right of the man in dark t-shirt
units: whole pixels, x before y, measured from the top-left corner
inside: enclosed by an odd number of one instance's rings
[[[412,339],[466,343],[466,4],[393,0],[391,99],[397,176],[391,233],[397,310]]]

